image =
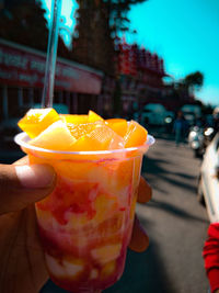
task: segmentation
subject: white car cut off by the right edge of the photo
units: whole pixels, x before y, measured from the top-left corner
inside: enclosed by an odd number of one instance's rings
[[[207,147],[200,167],[198,199],[206,204],[211,223],[219,222],[219,133]]]

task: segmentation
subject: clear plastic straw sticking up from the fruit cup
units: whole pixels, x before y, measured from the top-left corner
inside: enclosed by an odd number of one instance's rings
[[[51,1],[51,23],[49,27],[46,69],[44,89],[42,95],[42,108],[51,108],[54,99],[54,79],[56,71],[56,57],[58,46],[59,19],[61,11],[61,0]]]

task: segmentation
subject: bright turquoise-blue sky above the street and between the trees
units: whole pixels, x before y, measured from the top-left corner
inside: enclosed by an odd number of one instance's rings
[[[42,1],[50,7],[51,0]],[[76,1],[62,0],[62,26],[73,27],[74,9]],[[175,79],[201,71],[205,82],[196,95],[219,104],[219,0],[149,0],[134,5],[129,19],[138,34],[127,35],[127,41],[157,52]],[[68,33],[65,37],[69,42]]]

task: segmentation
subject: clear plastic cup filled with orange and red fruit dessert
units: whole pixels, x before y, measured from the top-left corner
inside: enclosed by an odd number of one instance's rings
[[[15,143],[30,164],[49,164],[57,173],[51,194],[36,203],[50,279],[70,292],[100,292],[123,274],[130,240],[142,156],[140,147],[104,151],[55,151]]]

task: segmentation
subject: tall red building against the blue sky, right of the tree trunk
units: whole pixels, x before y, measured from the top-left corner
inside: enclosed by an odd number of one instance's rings
[[[134,103],[162,103],[164,91],[163,59],[138,45],[119,43],[117,50],[117,76],[120,81],[123,112],[130,115]]]

